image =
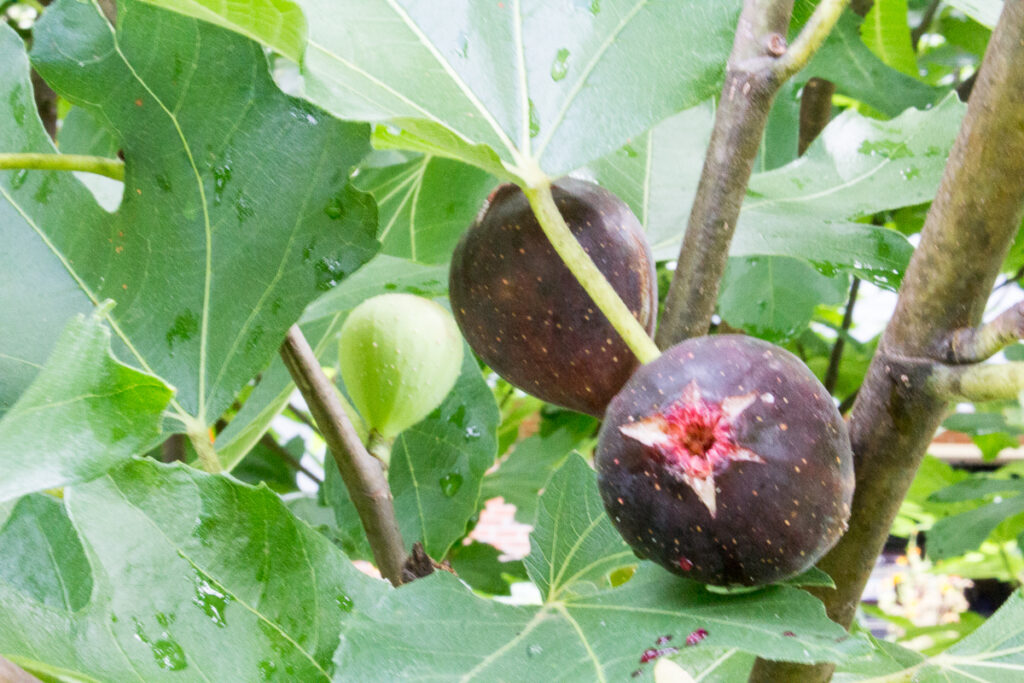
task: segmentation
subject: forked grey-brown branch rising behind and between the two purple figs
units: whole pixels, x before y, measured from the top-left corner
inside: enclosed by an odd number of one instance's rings
[[[772,99],[785,79],[807,63],[846,1],[822,0],[788,49],[783,36],[793,0],[743,3],[715,128],[657,331],[662,348],[708,333]]]

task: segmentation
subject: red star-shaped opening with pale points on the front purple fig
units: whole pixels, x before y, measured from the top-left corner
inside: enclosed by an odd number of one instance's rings
[[[738,445],[733,436],[736,418],[756,399],[757,393],[752,391],[728,396],[720,403],[705,400],[696,380],[692,380],[664,412],[625,424],[618,431],[660,455],[714,517],[718,512],[715,474],[736,461],[764,463],[758,454]]]

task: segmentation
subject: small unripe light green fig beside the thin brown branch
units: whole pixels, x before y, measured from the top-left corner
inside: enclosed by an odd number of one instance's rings
[[[455,386],[462,336],[452,314],[412,294],[382,294],[341,327],[341,377],[367,426],[385,439],[427,417]]]

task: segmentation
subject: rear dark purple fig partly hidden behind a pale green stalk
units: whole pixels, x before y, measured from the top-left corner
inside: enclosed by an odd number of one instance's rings
[[[636,216],[614,195],[585,180],[562,178],[552,194],[573,236],[650,333],[657,282]],[[551,403],[600,417],[638,366],[515,185],[496,189],[459,242],[449,295],[477,355]]]

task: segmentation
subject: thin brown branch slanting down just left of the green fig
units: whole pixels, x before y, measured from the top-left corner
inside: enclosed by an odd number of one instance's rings
[[[399,586],[406,563],[406,546],[394,516],[391,489],[380,462],[367,453],[341,407],[337,389],[324,375],[316,354],[297,325],[288,331],[285,343],[281,345],[281,356],[338,464],[381,575],[393,586]]]

